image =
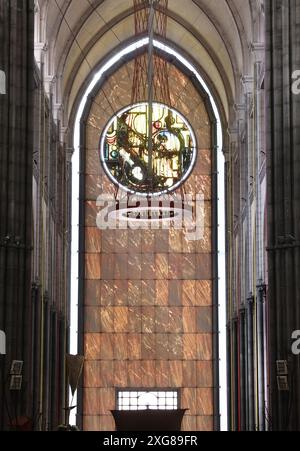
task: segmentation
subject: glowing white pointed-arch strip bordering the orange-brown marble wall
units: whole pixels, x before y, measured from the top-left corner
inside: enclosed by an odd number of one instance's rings
[[[100,81],[102,76],[113,67],[121,58],[135,50],[146,46],[149,38],[136,41],[118,52],[112,57],[94,76],[86,89],[80,102],[74,127],[74,154],[72,158],[72,246],[71,246],[71,326],[70,326],[70,352],[78,353],[78,276],[79,276],[79,186],[80,186],[80,122],[89,94]],[[220,356],[220,414],[221,430],[228,430],[227,423],[227,363],[226,363],[226,260],[225,260],[225,173],[223,135],[220,114],[216,102],[205,81],[195,67],[182,55],[171,47],[154,40],[154,46],[174,56],[190,72],[192,72],[204,90],[207,92],[216,120],[217,120],[217,144],[218,144],[218,268],[219,268],[219,356]],[[76,404],[77,400],[74,399]],[[76,411],[72,411],[72,422],[76,422]]]

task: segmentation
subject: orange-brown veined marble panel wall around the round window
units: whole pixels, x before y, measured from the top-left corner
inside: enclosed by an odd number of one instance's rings
[[[130,103],[132,67],[105,85],[115,111]],[[189,409],[183,429],[213,429],[211,125],[192,83],[172,65],[169,74],[172,106],[197,137],[197,162],[184,190],[205,196],[204,238],[189,241],[175,229],[96,227],[97,197],[115,192],[99,159],[99,139],[115,111],[100,90],[85,147],[85,430],[114,429],[117,388],[179,388],[181,407]]]

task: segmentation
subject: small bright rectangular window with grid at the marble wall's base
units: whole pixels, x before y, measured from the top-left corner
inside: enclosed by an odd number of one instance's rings
[[[117,410],[177,410],[179,409],[178,390],[117,392]]]

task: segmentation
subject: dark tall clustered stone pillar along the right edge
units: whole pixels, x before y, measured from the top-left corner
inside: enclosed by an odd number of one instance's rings
[[[266,0],[270,418],[273,430],[300,429],[300,1]],[[277,360],[288,362],[288,391],[278,389]]]

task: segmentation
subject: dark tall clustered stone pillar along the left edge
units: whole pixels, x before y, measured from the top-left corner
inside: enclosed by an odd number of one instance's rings
[[[0,2],[0,430],[31,409],[33,0]],[[3,76],[2,76],[3,80]],[[2,86],[3,88],[3,86]],[[20,392],[9,390],[12,360],[24,361]]]

